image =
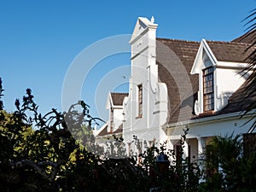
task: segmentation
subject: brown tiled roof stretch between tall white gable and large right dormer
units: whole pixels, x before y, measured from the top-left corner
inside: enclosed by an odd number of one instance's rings
[[[165,46],[170,50],[166,50]],[[198,91],[198,75],[190,75],[190,70],[199,46],[200,42],[157,38],[156,61],[159,66],[159,78],[161,82],[166,83],[168,90],[169,117],[167,124],[177,122],[178,118],[186,119],[189,116],[190,119],[193,116],[193,96]],[[185,70],[180,70],[180,64]],[[176,74],[176,80],[171,73]],[[186,81],[184,73],[189,77],[191,83]],[[188,85],[192,87],[192,93]],[[183,95],[183,98],[180,94]],[[189,108],[180,113],[180,109],[184,106]]]

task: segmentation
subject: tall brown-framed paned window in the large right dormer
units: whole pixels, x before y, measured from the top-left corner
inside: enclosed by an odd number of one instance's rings
[[[203,70],[204,111],[214,110],[213,67]]]

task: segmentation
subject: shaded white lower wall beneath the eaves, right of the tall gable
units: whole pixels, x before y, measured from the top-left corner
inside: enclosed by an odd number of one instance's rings
[[[202,149],[205,148],[210,138],[214,136],[230,137],[232,134],[236,136],[247,133],[252,127],[253,122],[245,123],[251,117],[241,118],[240,113],[230,113],[205,119],[195,119],[184,122],[183,125],[166,128],[169,148],[174,148],[183,134],[183,129],[189,128],[186,143],[190,145],[190,160],[198,160],[199,154],[203,152]],[[188,148],[184,148],[184,153],[188,154]]]

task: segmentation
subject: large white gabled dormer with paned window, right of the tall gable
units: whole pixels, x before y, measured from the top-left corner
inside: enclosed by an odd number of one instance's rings
[[[211,49],[211,46],[213,49]],[[214,113],[226,106],[230,96],[244,83],[241,69],[246,63],[232,61],[230,43],[201,40],[191,74],[199,74],[199,91],[195,101],[195,113]],[[212,51],[214,50],[214,51]],[[226,56],[224,51],[226,51]],[[214,52],[214,54],[213,54]],[[221,56],[219,56],[221,55]],[[221,58],[219,61],[217,58]]]

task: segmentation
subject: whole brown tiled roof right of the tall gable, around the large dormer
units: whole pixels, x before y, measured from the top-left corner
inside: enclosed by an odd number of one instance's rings
[[[162,44],[170,49],[170,51],[166,52],[166,49],[162,48]],[[250,51],[245,53],[250,44],[219,41],[207,41],[207,44],[212,49],[212,53],[218,61],[245,62],[247,55],[250,53]],[[244,102],[252,102],[256,99],[255,96],[245,99],[246,96],[243,92],[245,85],[243,85],[230,97],[229,104],[223,110],[206,116],[196,116],[193,108],[194,101],[197,99],[197,91],[199,90],[198,75],[191,75],[190,70],[195,61],[195,55],[199,46],[200,42],[157,38],[156,61],[159,66],[159,79],[160,82],[166,83],[168,90],[169,117],[166,124],[172,124],[182,120],[204,118],[221,113],[242,111],[248,105]],[[183,65],[187,74],[184,74],[180,70],[181,68],[177,67],[179,64]],[[176,75],[175,79],[173,78],[173,74]],[[184,75],[189,77],[190,83],[188,81],[186,82]],[[192,90],[189,88],[189,85],[192,87]]]

